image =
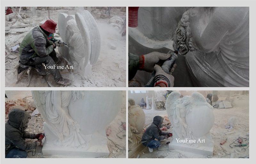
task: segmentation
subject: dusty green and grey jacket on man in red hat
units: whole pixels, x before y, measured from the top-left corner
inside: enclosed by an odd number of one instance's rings
[[[48,36],[44,34],[39,26],[29,31],[20,43],[20,62],[26,64],[33,57],[49,55],[53,51],[54,46],[52,45],[53,42],[47,38]]]

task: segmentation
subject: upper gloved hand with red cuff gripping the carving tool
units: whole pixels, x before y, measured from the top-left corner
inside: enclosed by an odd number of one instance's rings
[[[170,53],[164,54],[160,52],[150,52],[147,55],[143,55],[144,57],[143,63],[140,66],[140,69],[147,72],[153,72],[154,65],[159,62],[159,60],[166,60],[171,56]]]

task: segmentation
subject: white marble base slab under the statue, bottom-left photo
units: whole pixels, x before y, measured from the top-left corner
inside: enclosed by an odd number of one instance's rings
[[[45,143],[43,145],[42,152],[43,155],[81,156],[87,158],[104,157],[109,155],[107,145],[94,145],[86,150],[86,148],[75,149],[72,147],[55,147]]]

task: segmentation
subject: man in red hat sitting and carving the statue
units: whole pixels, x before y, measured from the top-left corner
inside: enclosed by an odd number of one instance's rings
[[[46,20],[44,24],[28,32],[20,43],[20,67],[18,68],[18,73],[24,71],[28,66],[33,66],[40,75],[46,75],[45,66],[47,66],[55,82],[61,85],[69,85],[71,83],[70,80],[62,78],[60,71],[53,67],[60,60],[57,58],[54,48],[65,46],[59,40],[55,42],[50,40],[55,33],[56,26],[57,23],[53,20]]]

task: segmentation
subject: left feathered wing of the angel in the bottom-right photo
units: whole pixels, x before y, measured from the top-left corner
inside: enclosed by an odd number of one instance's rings
[[[180,98],[180,92],[178,91],[173,91],[172,93],[169,94],[169,96],[166,99],[165,102],[165,107],[166,111],[169,117],[169,120],[172,123],[172,116],[173,116],[173,111],[176,108],[177,105],[177,100]]]

